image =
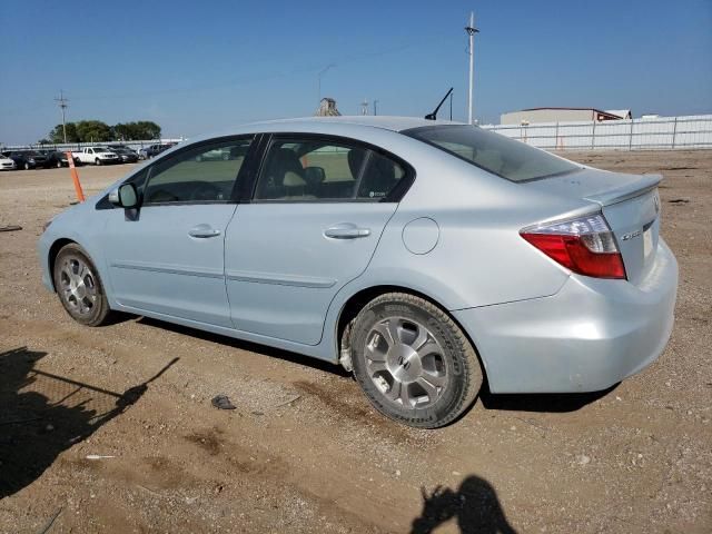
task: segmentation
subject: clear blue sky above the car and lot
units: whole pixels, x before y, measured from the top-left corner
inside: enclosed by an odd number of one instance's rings
[[[23,0],[0,10],[0,142],[68,120],[155,120],[194,136],[312,115],[423,116],[455,87],[465,117],[469,10],[475,116],[528,107],[712,112],[712,0],[129,1]],[[447,110],[445,110],[447,113]]]

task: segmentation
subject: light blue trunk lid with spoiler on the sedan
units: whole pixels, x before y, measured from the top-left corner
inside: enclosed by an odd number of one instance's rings
[[[627,175],[584,168],[526,184],[542,192],[601,207],[617,241],[627,279],[640,284],[651,269],[660,234],[661,175]]]

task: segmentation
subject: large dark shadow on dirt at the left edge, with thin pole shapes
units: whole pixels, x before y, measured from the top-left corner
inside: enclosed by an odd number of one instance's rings
[[[67,448],[125,413],[164,374],[115,393],[37,369],[47,353],[0,353],[0,500],[34,482]]]

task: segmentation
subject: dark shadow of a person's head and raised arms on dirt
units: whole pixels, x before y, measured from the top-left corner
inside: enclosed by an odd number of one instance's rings
[[[467,476],[457,490],[421,487],[423,510],[413,520],[411,534],[429,534],[455,521],[461,534],[515,534],[502,510],[497,492],[484,478]]]

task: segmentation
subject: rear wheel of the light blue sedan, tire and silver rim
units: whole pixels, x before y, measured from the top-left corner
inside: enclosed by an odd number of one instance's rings
[[[382,414],[437,428],[474,403],[479,360],[467,336],[433,303],[389,293],[368,303],[350,337],[354,375]]]

